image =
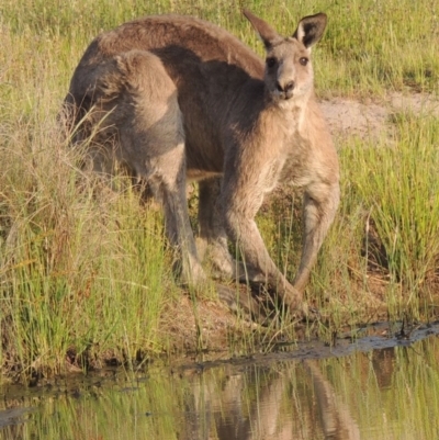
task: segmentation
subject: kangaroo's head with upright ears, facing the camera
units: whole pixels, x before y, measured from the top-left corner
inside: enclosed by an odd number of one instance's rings
[[[266,89],[274,101],[300,99],[313,89],[311,47],[326,27],[326,14],[303,18],[292,36],[279,35],[268,23],[248,10],[243,11],[266,46]]]

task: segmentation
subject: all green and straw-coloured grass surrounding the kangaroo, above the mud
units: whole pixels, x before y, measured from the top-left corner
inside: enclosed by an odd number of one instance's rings
[[[142,205],[123,176],[110,187],[78,168],[56,114],[69,78],[102,30],[149,13],[198,15],[228,29],[261,53],[241,7],[277,29],[325,11],[328,31],[314,50],[320,97],[380,99],[389,91],[437,93],[439,5],[417,2],[236,2],[4,0],[0,4],[0,366],[7,375],[55,374],[67,363],[139,362],[169,352],[176,284],[162,217]],[[349,117],[349,116],[348,116]],[[439,122],[402,111],[376,139],[340,136],[342,202],[324,245],[307,298],[329,321],[309,325],[327,338],[341,326],[434,319],[438,302]],[[115,191],[114,191],[115,190]],[[288,203],[284,203],[288,202]],[[196,205],[196,195],[191,200]],[[290,279],[300,249],[300,193],[284,190],[259,225]],[[269,214],[269,215],[267,215]],[[198,303],[212,292],[189,295]],[[294,338],[286,323],[246,331],[258,341]],[[198,341],[209,346],[199,326]],[[270,336],[267,336],[269,334]],[[232,339],[230,347],[236,348]],[[266,347],[266,346],[264,346]],[[183,346],[180,347],[183,349]],[[185,347],[187,348],[187,347]]]

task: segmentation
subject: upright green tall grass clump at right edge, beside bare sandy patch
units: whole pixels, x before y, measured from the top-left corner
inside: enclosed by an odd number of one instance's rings
[[[439,121],[412,113],[394,119],[392,143],[354,148],[351,179],[384,245],[392,284],[404,298],[401,312],[418,308],[437,282]]]

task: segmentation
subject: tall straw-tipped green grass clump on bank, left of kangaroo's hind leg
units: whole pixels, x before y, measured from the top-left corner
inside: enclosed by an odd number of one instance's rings
[[[1,148],[4,364],[50,373],[67,352],[85,368],[160,352],[158,320],[176,289],[160,214],[130,187],[116,194],[80,172],[55,126],[15,133]]]

